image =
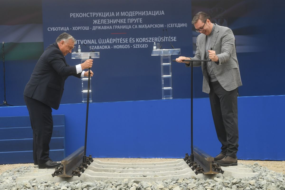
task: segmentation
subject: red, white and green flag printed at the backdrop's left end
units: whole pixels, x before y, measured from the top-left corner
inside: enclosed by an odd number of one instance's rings
[[[0,18],[0,44],[3,48],[5,42],[5,60],[34,60],[42,55],[42,1],[1,0]]]

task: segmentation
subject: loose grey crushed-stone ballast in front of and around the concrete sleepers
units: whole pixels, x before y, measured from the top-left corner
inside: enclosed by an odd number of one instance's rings
[[[16,183],[15,180],[24,173],[29,172],[33,166],[22,166],[10,169],[0,175],[0,190],[243,190],[243,189],[262,189],[262,190],[283,190],[285,189],[285,174],[274,172],[266,167],[260,166],[257,162],[246,165],[257,172],[256,177],[245,178],[213,178],[197,179],[195,175],[184,179],[168,179],[164,181],[136,181],[127,179],[122,181],[93,181],[84,182],[81,180],[73,182],[52,182],[38,181],[31,179]],[[194,173],[193,173],[194,174]]]

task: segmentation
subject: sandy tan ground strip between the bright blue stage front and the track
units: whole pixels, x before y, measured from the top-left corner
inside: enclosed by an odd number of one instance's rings
[[[94,158],[102,162],[122,162],[122,163],[139,163],[139,162],[167,162],[171,160],[177,160],[176,158]],[[268,169],[276,172],[282,172],[285,174],[285,161],[261,161],[261,160],[238,160],[241,164],[258,164],[262,167],[267,167]],[[21,166],[33,166],[34,164],[5,164],[0,165],[0,174],[9,169],[19,168]]]

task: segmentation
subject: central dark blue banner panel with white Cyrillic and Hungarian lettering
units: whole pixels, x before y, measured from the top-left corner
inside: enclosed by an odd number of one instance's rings
[[[91,68],[93,102],[161,99],[160,56],[151,56],[154,42],[192,56],[189,0],[43,0],[42,9],[44,47],[67,32],[76,38],[76,49],[100,52]],[[78,64],[70,54],[66,60]],[[189,79],[184,64],[172,63],[173,98],[190,97]]]

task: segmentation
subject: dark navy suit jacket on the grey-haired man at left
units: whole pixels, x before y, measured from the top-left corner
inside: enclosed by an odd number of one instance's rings
[[[25,87],[24,95],[58,109],[64,81],[70,75],[80,78],[81,73],[76,74],[76,66],[66,63],[56,42],[50,44],[40,56]]]

